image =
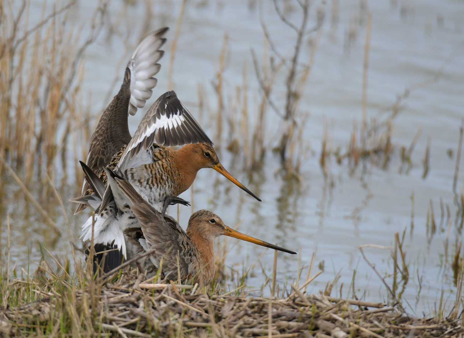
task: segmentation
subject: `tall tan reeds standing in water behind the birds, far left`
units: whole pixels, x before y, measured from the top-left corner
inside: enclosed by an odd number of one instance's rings
[[[0,1],[0,156],[26,186],[34,173],[43,183],[44,171],[53,180],[60,163],[64,184],[70,159],[77,168],[91,135],[83,59],[102,31],[108,3],[98,3],[81,25],[72,23],[76,1],[44,1],[39,15],[34,5]]]

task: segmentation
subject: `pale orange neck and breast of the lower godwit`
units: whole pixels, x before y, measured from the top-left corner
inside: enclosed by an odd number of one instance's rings
[[[197,248],[200,256],[200,276],[203,279],[204,285],[208,285],[213,281],[214,272],[216,271],[216,267],[214,265],[213,240],[203,237],[198,231],[192,231],[191,228],[187,228],[187,235]]]

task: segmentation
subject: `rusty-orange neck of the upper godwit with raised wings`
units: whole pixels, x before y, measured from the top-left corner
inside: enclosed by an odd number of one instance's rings
[[[199,161],[198,150],[195,144],[187,144],[175,151],[175,162],[182,177],[182,191],[187,190],[195,180],[198,170],[203,168]]]

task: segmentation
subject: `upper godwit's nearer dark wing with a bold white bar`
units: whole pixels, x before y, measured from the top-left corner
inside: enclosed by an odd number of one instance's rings
[[[158,97],[147,111],[122,154],[118,168],[121,170],[131,168],[131,160],[141,150],[148,150],[153,143],[164,146],[188,143],[213,144],[174,91],[168,91]]]

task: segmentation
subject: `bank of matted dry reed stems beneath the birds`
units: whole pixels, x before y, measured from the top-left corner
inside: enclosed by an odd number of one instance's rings
[[[1,308],[2,337],[462,337],[461,319],[410,318],[394,306],[292,286],[288,298],[211,294],[198,285],[152,284],[136,270],[113,283],[69,280],[39,286],[15,280],[11,293],[32,291],[28,304]]]

